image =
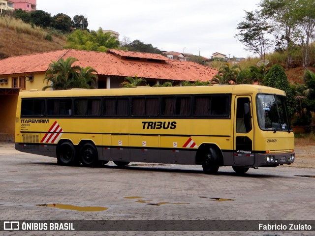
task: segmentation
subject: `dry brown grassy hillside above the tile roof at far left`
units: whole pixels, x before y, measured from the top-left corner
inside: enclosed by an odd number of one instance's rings
[[[49,41],[43,36],[24,33],[19,29],[8,29],[0,25],[0,59],[60,50],[65,44],[64,37],[52,36]]]

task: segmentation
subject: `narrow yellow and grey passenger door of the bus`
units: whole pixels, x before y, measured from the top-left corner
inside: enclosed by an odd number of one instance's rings
[[[254,165],[254,130],[252,120],[252,97],[236,96],[234,111],[234,164]]]

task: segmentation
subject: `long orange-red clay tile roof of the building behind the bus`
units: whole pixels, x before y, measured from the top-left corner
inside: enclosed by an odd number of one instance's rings
[[[108,76],[137,75],[145,79],[209,81],[218,73],[218,70],[195,62],[171,60],[158,54],[112,49],[107,53],[65,49],[2,59],[0,60],[0,75],[44,72],[52,60],[57,61],[60,58],[69,57],[79,60],[74,63],[76,65],[92,66],[99,75]],[[153,59],[153,61],[148,61],[148,59]]]

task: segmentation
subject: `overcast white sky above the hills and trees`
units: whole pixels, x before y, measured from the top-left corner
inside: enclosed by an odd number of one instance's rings
[[[83,15],[88,29],[111,29],[125,37],[152,44],[162,51],[191,53],[210,58],[253,56],[235,38],[245,11],[260,0],[37,0],[36,9],[72,19]]]

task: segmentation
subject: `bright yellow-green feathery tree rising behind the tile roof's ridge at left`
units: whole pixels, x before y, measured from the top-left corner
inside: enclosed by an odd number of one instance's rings
[[[76,29],[67,37],[65,48],[106,52],[108,48],[118,49],[119,41],[110,32],[104,33],[102,28],[91,32]]]

